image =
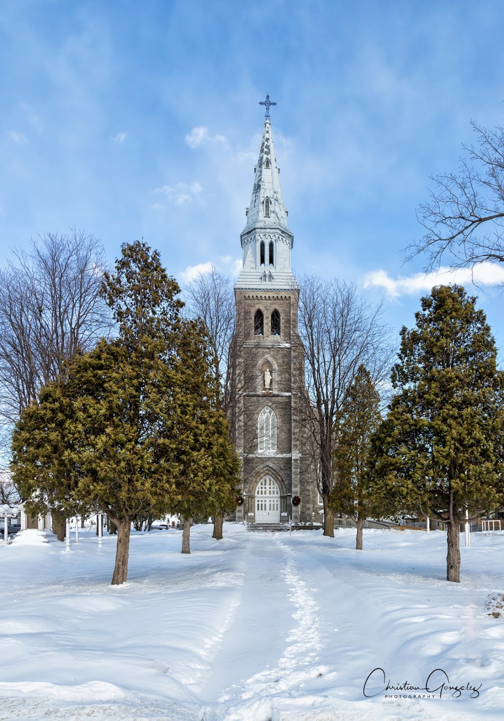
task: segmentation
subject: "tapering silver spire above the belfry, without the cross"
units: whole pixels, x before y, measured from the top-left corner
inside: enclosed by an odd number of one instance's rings
[[[244,232],[255,227],[270,226],[281,226],[288,230],[287,211],[280,187],[280,168],[276,162],[270,118],[266,118]]]

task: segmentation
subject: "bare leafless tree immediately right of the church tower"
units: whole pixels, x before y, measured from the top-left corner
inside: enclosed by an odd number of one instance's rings
[[[305,455],[317,469],[324,503],[324,536],[334,536],[329,495],[335,482],[333,450],[337,419],[361,364],[375,384],[389,374],[392,349],[381,304],[370,306],[354,286],[305,275],[300,282],[299,335],[304,345],[304,376],[293,379]]]

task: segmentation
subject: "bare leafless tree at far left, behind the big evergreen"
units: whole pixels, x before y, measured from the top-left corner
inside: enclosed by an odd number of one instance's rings
[[[110,330],[100,298],[105,257],[83,231],[48,233],[0,270],[0,415],[4,425],[37,397],[77,350]]]

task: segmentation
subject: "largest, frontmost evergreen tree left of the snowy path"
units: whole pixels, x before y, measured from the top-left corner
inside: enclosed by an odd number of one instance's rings
[[[103,293],[118,339],[68,363],[22,415],[13,443],[14,478],[34,508],[52,496],[63,508],[99,508],[117,526],[112,584],[127,577],[131,522],[174,504],[172,416],[183,407],[177,283],[143,242],[123,245],[116,268]],[[43,446],[44,429],[58,453]]]

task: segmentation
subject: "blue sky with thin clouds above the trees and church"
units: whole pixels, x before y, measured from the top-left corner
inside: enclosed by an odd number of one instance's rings
[[[143,236],[180,281],[232,273],[269,92],[293,269],[411,326],[436,280],[403,265],[415,209],[470,120],[503,124],[503,29],[485,0],[3,0],[0,262],[75,226],[110,260]],[[490,275],[474,293],[503,350]]]

